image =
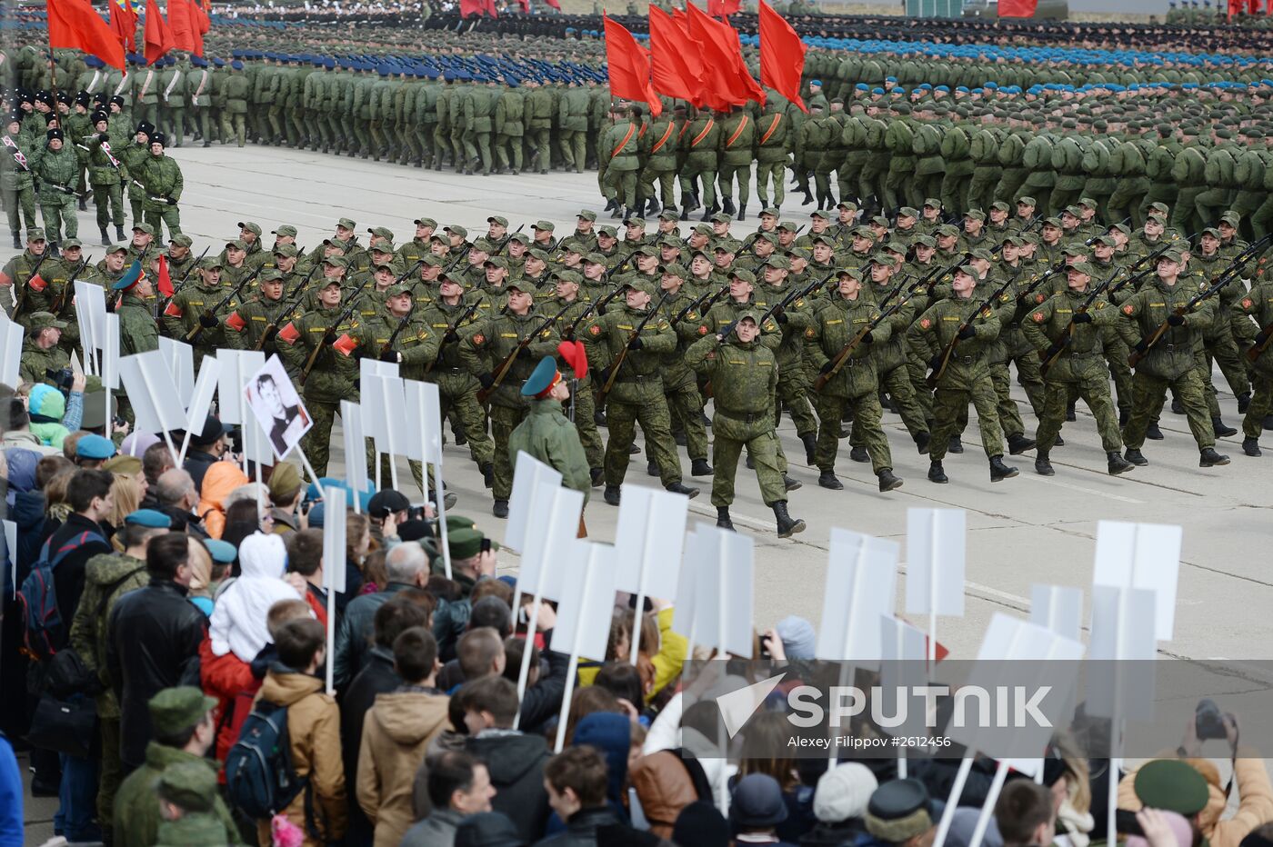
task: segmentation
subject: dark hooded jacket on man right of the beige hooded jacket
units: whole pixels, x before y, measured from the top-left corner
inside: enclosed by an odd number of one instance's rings
[[[549,745],[542,735],[486,734],[470,738],[465,749],[486,763],[495,797],[495,811],[503,811],[527,843],[544,832],[549,820],[549,792],[544,788],[544,763]]]

